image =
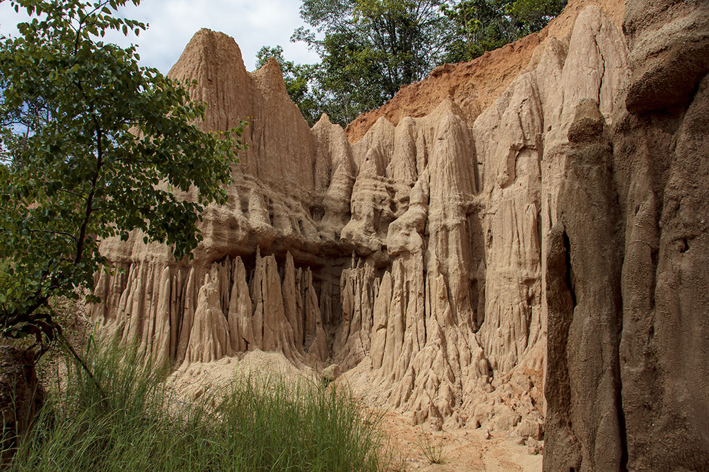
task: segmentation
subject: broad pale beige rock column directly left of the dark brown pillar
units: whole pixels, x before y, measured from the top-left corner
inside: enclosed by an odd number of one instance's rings
[[[478,339],[506,374],[540,331],[540,209],[544,118],[535,76],[524,74],[475,122],[485,163],[485,313]]]

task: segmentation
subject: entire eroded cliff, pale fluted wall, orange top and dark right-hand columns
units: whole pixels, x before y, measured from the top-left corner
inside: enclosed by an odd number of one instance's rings
[[[337,364],[548,471],[709,470],[708,73],[705,0],[576,0],[345,132],[201,30],[170,75],[250,122],[230,199],[192,260],[104,241],[93,316],[174,367]]]

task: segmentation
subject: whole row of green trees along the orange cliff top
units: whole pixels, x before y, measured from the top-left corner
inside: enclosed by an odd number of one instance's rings
[[[566,0],[303,0],[291,40],[306,42],[318,64],[274,57],[286,87],[313,125],[321,113],[345,126],[445,62],[469,61],[543,28]],[[289,85],[290,84],[290,85]]]

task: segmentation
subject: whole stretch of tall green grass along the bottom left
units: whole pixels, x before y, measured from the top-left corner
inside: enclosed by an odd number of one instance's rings
[[[69,366],[19,444],[16,471],[376,471],[377,418],[350,393],[242,376],[217,396],[179,401],[156,369],[116,343]],[[210,405],[216,405],[212,407]]]

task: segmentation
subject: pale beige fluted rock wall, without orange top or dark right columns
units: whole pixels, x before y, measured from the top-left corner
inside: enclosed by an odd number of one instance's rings
[[[601,99],[610,115],[625,70],[601,8],[576,23],[578,52],[545,42],[474,122],[445,98],[396,126],[380,118],[354,144],[326,116],[303,127],[276,64],[249,74],[233,40],[197,33],[171,74],[202,84],[205,127],[251,117],[249,150],[191,263],[139,236],[104,243],[125,274],[101,275],[94,315],[175,366],[283,352],[338,364],[415,424],[541,438],[544,215],[562,175],[542,169],[547,153],[563,165],[574,103]]]

